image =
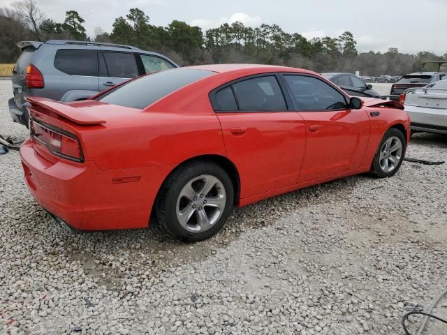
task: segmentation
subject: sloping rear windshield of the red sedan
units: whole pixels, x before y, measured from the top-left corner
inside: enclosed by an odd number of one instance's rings
[[[181,87],[214,75],[208,70],[173,68],[145,75],[96,98],[103,103],[143,109]]]

